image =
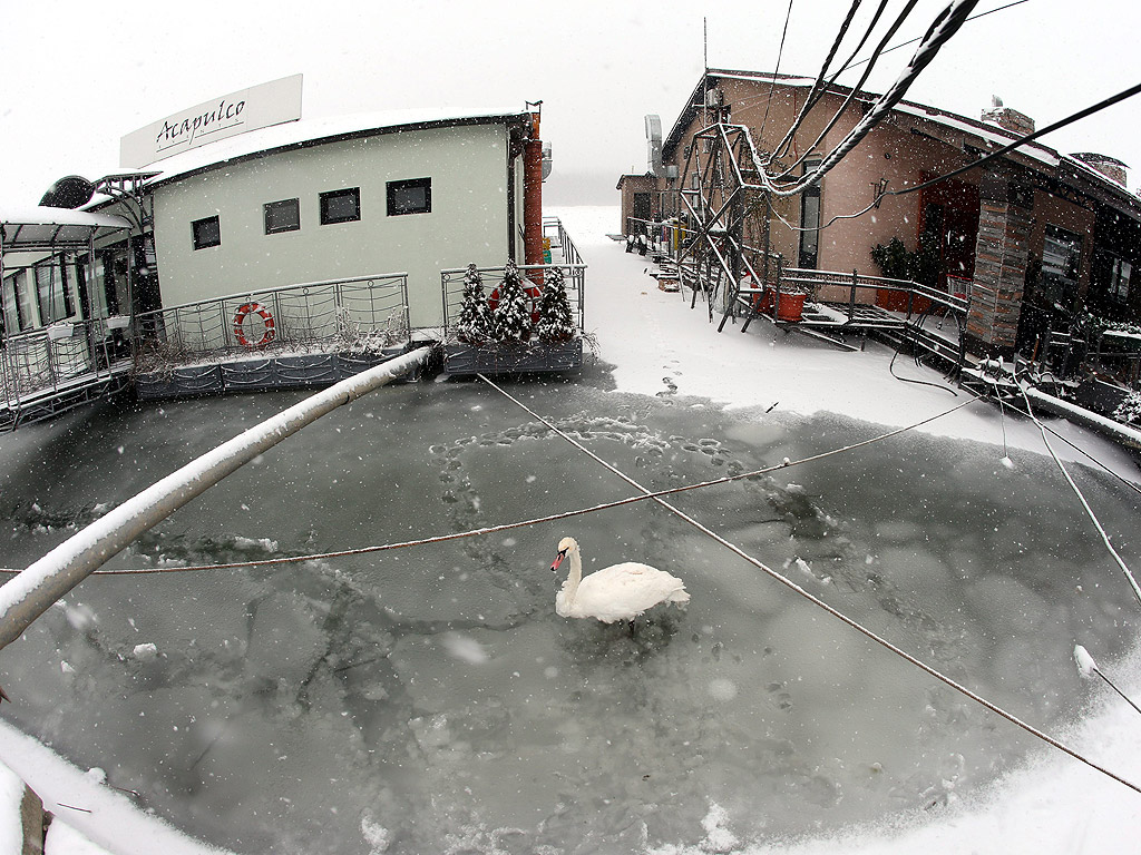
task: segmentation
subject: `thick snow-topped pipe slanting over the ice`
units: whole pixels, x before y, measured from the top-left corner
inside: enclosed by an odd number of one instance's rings
[[[0,648],[16,641],[40,614],[94,570],[259,454],[343,404],[423,365],[419,348],[306,398],[156,481],[0,586]]]

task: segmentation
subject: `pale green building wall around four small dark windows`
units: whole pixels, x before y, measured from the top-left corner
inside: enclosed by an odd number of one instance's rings
[[[439,325],[442,269],[507,261],[507,164],[504,125],[456,125],[269,154],[160,186],[163,306],[406,271],[413,327]],[[431,178],[431,212],[389,217],[386,182],[415,178]],[[318,194],[349,187],[361,188],[361,220],[322,226]],[[299,199],[300,230],[265,234],[262,206],[288,198]],[[221,245],[194,250],[191,223],[215,214]]]

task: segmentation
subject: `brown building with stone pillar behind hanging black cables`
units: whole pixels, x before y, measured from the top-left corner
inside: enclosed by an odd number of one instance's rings
[[[652,163],[646,177],[618,182],[623,222],[638,217],[636,204],[685,215],[677,192],[697,186],[694,137],[718,117],[748,128],[766,160],[814,82],[707,72],[662,141],[661,163]],[[828,88],[769,171],[814,169],[876,97]],[[968,333],[978,352],[1009,353],[1044,328],[1068,326],[1084,308],[1108,319],[1141,318],[1141,279],[1133,282],[1141,264],[1141,202],[1125,187],[1125,164],[1112,157],[1065,155],[1031,141],[954,179],[883,195],[968,165],[1033,129],[1033,120],[997,99],[978,120],[900,101],[818,185],[772,197],[771,247],[793,267],[880,276],[872,249],[899,238],[907,251],[924,254],[929,284],[970,292]],[[656,198],[639,203],[648,181]],[[892,308],[888,292],[875,299]]]

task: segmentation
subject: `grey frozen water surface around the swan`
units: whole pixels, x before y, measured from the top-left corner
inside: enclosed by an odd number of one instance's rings
[[[515,383],[652,488],[874,435],[584,383]],[[299,396],[110,406],[0,440],[5,563]],[[693,406],[698,404],[701,406]],[[1020,717],[1090,699],[1132,594],[1047,458],[904,434],[672,500]],[[1126,561],[1135,494],[1076,477]],[[480,383],[388,388],[211,489],[108,567],[309,554],[630,495]],[[585,571],[685,579],[686,612],[555,614],[558,539]],[[140,804],[240,853],[625,853],[938,815],[1034,741],[653,503],[431,546],[83,583],[2,658],[5,715]]]

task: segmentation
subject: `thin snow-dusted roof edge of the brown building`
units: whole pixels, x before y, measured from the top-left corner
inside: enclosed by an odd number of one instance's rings
[[[774,74],[771,72],[733,71],[725,68],[710,68],[709,76],[711,79],[719,80],[745,80],[753,83],[767,83],[782,87],[794,87],[799,89],[808,89],[816,83],[814,78],[804,78],[793,74]],[[678,120],[674,122],[665,142],[663,144],[663,156],[669,157],[672,155],[673,149],[675,149],[678,144],[681,141],[686,128],[688,128],[693,120],[697,116],[697,112],[701,109],[701,105],[704,101],[704,79],[698,81],[697,87],[694,89],[693,95],[690,95],[685,108],[678,115]],[[853,90],[851,87],[839,84],[833,84],[830,88],[830,91],[842,96],[848,96],[855,91],[855,99],[861,103],[869,103],[880,97],[876,92]],[[990,149],[1009,146],[1021,136],[990,122],[970,119],[969,116],[962,116],[939,107],[919,104],[917,101],[900,100],[895,107],[892,107],[892,111],[895,113],[911,115],[955,131],[970,133],[980,139],[984,144],[986,144],[987,148]],[[1135,217],[1141,215],[1141,201],[1139,201],[1135,195],[1130,193],[1125,187],[1122,187],[1111,178],[1093,169],[1089,163],[1084,163],[1073,155],[1061,154],[1057,149],[1043,145],[1037,140],[1022,144],[1015,149],[1015,152],[1012,152],[1011,155],[1021,155],[1022,157],[1028,158],[1028,161],[1033,162],[1034,169],[1050,176],[1051,178],[1070,181],[1075,179],[1079,180],[1083,184],[1082,189],[1089,189],[1095,193],[1101,201],[1115,204],[1117,207],[1126,207]],[[1119,163],[1119,161],[1114,161],[1111,157],[1102,157],[1106,161]]]

